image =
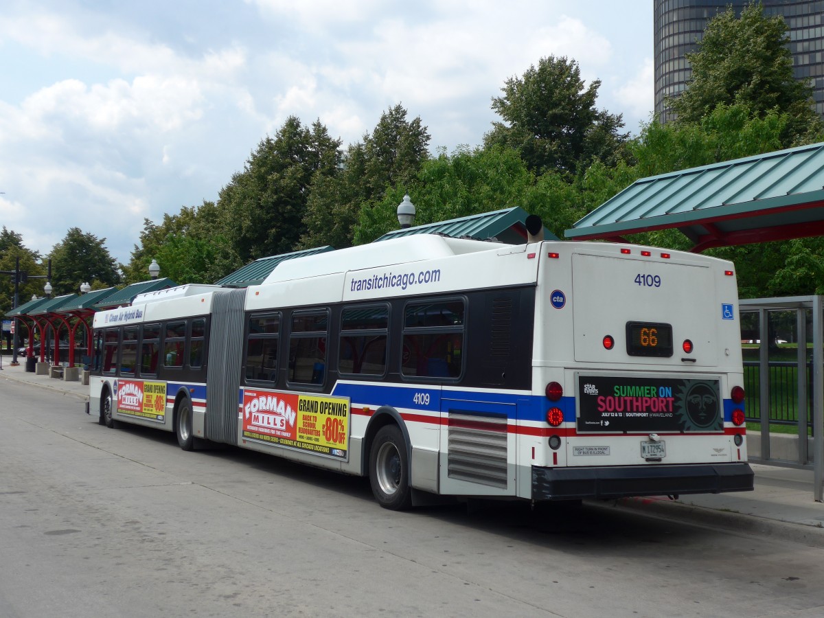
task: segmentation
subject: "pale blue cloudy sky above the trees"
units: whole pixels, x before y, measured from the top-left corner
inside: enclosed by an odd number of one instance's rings
[[[475,147],[504,82],[550,55],[600,79],[597,107],[637,134],[652,5],[3,0],[0,227],[41,254],[79,227],[126,264],[144,219],[216,201],[290,115],[345,147],[400,103],[433,153]]]

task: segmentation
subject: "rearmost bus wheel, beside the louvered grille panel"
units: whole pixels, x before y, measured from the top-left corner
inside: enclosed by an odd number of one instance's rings
[[[369,452],[372,494],[383,508],[400,511],[412,505],[406,442],[396,425],[381,428]]]

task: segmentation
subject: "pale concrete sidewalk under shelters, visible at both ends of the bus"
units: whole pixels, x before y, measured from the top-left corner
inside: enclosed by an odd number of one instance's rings
[[[89,387],[26,372],[25,363],[10,367],[3,358],[2,380],[29,382],[41,388],[87,401]],[[82,405],[77,406],[82,414]],[[754,491],[696,494],[677,501],[666,497],[620,499],[598,503],[602,508],[629,508],[664,517],[686,519],[710,527],[773,536],[824,548],[824,503],[813,499],[812,470],[751,464],[756,473]]]

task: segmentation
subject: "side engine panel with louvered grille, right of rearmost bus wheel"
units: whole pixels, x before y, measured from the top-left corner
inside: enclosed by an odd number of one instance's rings
[[[441,399],[441,494],[515,495],[516,440],[509,431],[515,409],[514,404]]]

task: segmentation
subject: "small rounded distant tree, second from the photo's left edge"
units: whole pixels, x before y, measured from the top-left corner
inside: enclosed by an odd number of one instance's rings
[[[52,260],[52,289],[54,296],[77,293],[80,285],[92,280],[106,286],[120,283],[115,259],[105,248],[105,238],[70,227],[63,241],[55,245],[49,257]]]

